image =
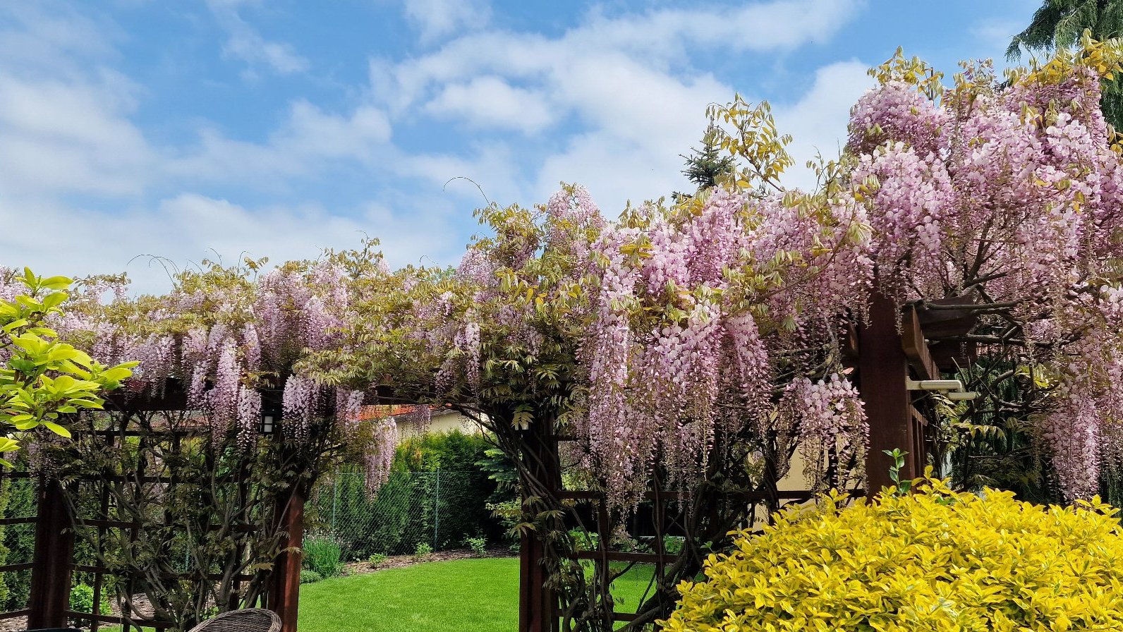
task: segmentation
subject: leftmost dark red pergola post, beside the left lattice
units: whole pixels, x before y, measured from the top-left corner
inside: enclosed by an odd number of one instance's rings
[[[37,500],[27,626],[66,628],[74,533],[70,530],[62,484],[40,476]]]

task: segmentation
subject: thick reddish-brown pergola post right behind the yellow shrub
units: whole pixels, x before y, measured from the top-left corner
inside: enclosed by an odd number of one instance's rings
[[[875,291],[869,322],[858,330],[858,390],[869,422],[866,489],[870,496],[893,485],[889,480],[893,459],[884,450],[900,448],[909,452],[900,474],[902,479],[920,476],[924,462],[923,437],[917,436],[905,385],[909,357],[898,322],[901,312],[896,301]]]

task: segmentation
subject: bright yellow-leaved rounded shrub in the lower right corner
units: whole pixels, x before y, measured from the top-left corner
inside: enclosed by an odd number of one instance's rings
[[[1123,529],[1099,498],[915,494],[783,513],[684,581],[668,632],[1123,630]]]

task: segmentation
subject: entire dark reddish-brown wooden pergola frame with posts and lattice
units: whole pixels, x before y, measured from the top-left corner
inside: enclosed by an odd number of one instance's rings
[[[953,305],[957,300],[949,300]],[[885,296],[876,296],[869,313],[869,324],[847,332],[848,360],[857,369],[857,383],[866,405],[870,433],[866,471],[870,489],[879,489],[891,484],[888,469],[892,465],[883,450],[900,448],[909,452],[902,477],[916,477],[923,470],[929,445],[930,425],[914,405],[906,379],[938,379],[941,374],[955,372],[966,366],[974,355],[970,342],[931,342],[933,339],[951,338],[967,332],[975,326],[973,312],[965,310],[917,309],[914,305],[898,311],[896,303]],[[181,393],[170,392],[161,399],[117,399],[112,401],[119,412],[130,411],[183,411],[186,400]],[[562,467],[558,459],[559,441],[572,438],[556,437],[548,428],[539,429],[531,442],[533,455],[524,455],[528,460],[546,464],[544,480],[551,480],[558,498],[581,501],[593,500],[588,492],[566,491],[562,485]],[[8,473],[10,477],[31,477],[26,473]],[[2,524],[35,525],[35,555],[31,562],[0,566],[0,573],[31,571],[30,598],[27,608],[2,613],[0,620],[16,616],[28,617],[29,628],[64,628],[70,619],[81,617],[97,623],[126,623],[121,616],[110,614],[88,614],[70,611],[72,574],[75,570],[93,573],[98,578],[95,603],[100,602],[101,576],[109,570],[100,567],[79,566],[74,560],[74,519],[64,501],[64,489],[60,483],[38,476],[37,512],[34,517],[6,519]],[[677,492],[652,489],[648,497],[652,501],[657,520],[666,515],[666,506]],[[806,501],[813,497],[810,491],[780,492],[785,501]],[[746,503],[759,502],[763,497],[745,495]],[[300,488],[290,489],[277,498],[277,514],[282,516],[286,533],[286,548],[277,557],[270,577],[270,589],[261,604],[279,614],[284,632],[295,632],[299,603],[301,553],[303,540],[304,494]],[[603,504],[601,505],[603,507]],[[600,512],[595,520],[606,523],[608,516]],[[103,521],[94,524],[102,529],[137,530],[139,523]],[[90,521],[86,521],[86,525]],[[520,566],[520,632],[556,632],[558,625],[558,599],[547,587],[548,576],[542,565],[545,551],[535,537],[522,537]],[[661,569],[674,556],[657,542],[654,552],[624,552],[610,550],[602,542],[599,550],[582,551],[577,559],[587,559],[608,565],[611,561],[647,562]],[[614,613],[617,621],[630,621],[629,613]],[[167,622],[144,622],[144,625],[165,629]]]

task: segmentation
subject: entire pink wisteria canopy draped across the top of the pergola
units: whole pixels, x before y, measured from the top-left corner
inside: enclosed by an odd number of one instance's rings
[[[691,485],[734,442],[773,474],[800,450],[819,485],[860,482],[867,429],[840,327],[864,322],[874,292],[959,297],[978,314],[964,341],[1032,377],[1017,384],[1057,483],[1088,496],[1102,467],[1123,467],[1123,163],[1098,108],[1121,56],[1085,42],[1007,82],[966,65],[950,88],[897,56],[815,191],[782,186],[788,139],[737,99],[710,112],[737,168],[674,203],[613,220],[565,185],[536,209],[491,205],[492,232],[455,269],[391,272],[372,242],[184,273],[164,296],[94,280],[56,328],[102,363],[139,360],[135,392],[179,378],[244,442],[263,387],[283,390],[294,441],[387,395],[493,428],[556,422],[627,506],[657,459]]]

